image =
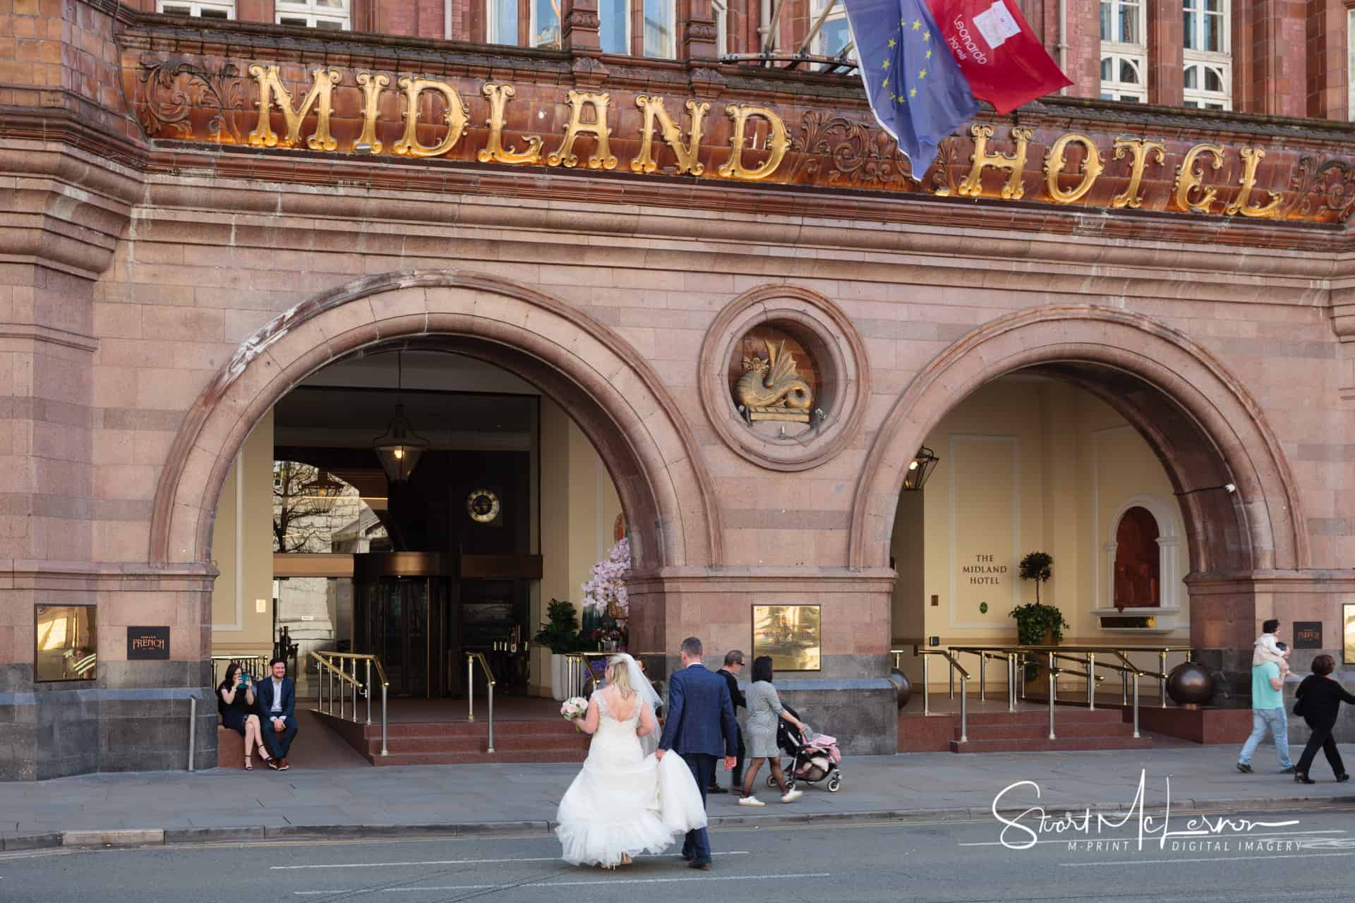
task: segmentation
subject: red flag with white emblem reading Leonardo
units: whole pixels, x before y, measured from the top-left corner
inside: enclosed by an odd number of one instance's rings
[[[1073,84],[1026,23],[1015,0],[927,0],[976,97],[1011,112]]]

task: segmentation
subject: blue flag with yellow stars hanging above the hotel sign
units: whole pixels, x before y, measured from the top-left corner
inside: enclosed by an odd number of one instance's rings
[[[978,111],[925,0],[843,0],[866,96],[921,179],[936,145]]]

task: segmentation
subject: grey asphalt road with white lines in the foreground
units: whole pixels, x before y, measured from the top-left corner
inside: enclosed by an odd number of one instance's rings
[[[1173,812],[1168,837],[1160,819],[1137,815],[1098,823],[1093,811],[1085,827],[1050,820],[1042,831],[1034,814],[1005,827],[1005,843],[992,818],[730,829],[711,834],[709,873],[676,856],[615,872],[572,868],[542,835],[47,850],[0,854],[0,900],[1352,900],[1352,811],[1211,814],[1209,824]],[[1182,834],[1190,830],[1203,834]]]

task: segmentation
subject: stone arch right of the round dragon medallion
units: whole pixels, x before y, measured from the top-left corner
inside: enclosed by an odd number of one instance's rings
[[[1260,405],[1207,349],[1142,314],[1047,306],[993,320],[938,355],[885,416],[856,483],[850,565],[882,567],[904,472],[969,393],[1014,371],[1072,382],[1148,440],[1182,500],[1190,570],[1309,565],[1298,491]],[[1237,491],[1188,490],[1234,483]]]

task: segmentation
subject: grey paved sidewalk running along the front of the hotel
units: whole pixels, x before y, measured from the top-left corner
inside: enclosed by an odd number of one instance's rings
[[[1299,749],[1293,750],[1297,758]],[[1355,762],[1355,747],[1343,747]],[[982,818],[993,797],[1016,781],[1004,808],[1119,810],[1133,803],[1146,772],[1146,804],[1161,810],[1171,778],[1173,812],[1191,808],[1260,808],[1272,804],[1355,801],[1355,781],[1336,784],[1327,762],[1314,785],[1279,774],[1274,747],[1263,746],[1253,774],[1234,769],[1237,747],[1194,746],[1096,753],[1012,753],[855,757],[843,761],[843,785],[828,793],[809,785],[782,806],[763,781],[766,808],[711,796],[713,824],[805,819]],[[546,831],[576,765],[447,765],[287,772],[213,769],[92,774],[0,784],[4,849],[72,843],[173,843],[266,834],[409,834]],[[724,774],[724,772],[721,772]],[[763,769],[760,778],[767,774]],[[142,834],[133,834],[142,829]],[[73,831],[93,831],[79,837]],[[121,831],[121,834],[119,834]],[[102,834],[108,833],[108,834]]]

